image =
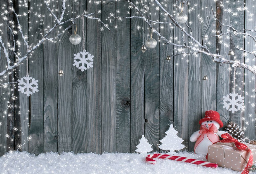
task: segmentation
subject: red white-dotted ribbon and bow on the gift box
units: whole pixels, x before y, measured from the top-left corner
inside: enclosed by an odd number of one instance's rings
[[[241,150],[246,150],[247,152],[250,153],[250,157],[249,157],[249,161],[247,163],[247,165],[245,166],[245,169],[242,171],[241,174],[248,174],[250,168],[252,167],[252,162],[253,162],[253,156],[252,156],[252,151],[250,148],[248,148],[244,143],[238,142],[236,139],[234,139],[230,134],[226,133],[226,134],[222,134],[221,138],[224,138],[223,140],[220,140],[218,142],[233,142],[235,143],[235,146],[237,149],[241,149]],[[217,143],[217,142],[215,142]],[[215,144],[213,143],[213,144]],[[207,159],[208,154],[206,155],[206,159]],[[208,160],[208,159],[207,159]]]

